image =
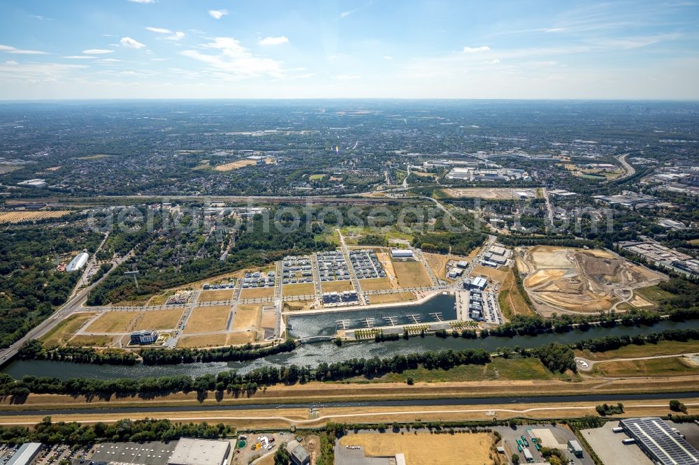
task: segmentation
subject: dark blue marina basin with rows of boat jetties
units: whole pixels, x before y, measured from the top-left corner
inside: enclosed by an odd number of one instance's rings
[[[453,295],[435,295],[419,305],[383,307],[368,310],[331,311],[287,318],[289,335],[295,339],[309,336],[334,336],[337,330],[435,323],[456,320]]]

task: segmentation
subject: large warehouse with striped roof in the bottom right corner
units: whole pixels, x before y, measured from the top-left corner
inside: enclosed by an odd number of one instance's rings
[[[635,439],[654,464],[699,464],[699,451],[677,432],[672,431],[670,425],[661,418],[629,418],[621,420],[619,425],[628,436]]]

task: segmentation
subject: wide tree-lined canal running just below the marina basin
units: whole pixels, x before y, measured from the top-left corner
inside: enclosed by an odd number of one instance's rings
[[[413,309],[416,307],[412,307]],[[334,319],[332,320],[334,324]],[[10,363],[3,373],[22,378],[22,376],[55,376],[56,378],[145,378],[149,376],[174,376],[190,375],[199,376],[203,374],[216,374],[219,371],[236,369],[247,371],[264,366],[288,366],[296,364],[298,366],[309,365],[315,367],[321,362],[333,363],[352,358],[369,357],[391,357],[396,354],[407,355],[409,353],[422,353],[427,350],[443,349],[464,349],[482,348],[488,351],[495,351],[503,347],[532,348],[544,346],[551,342],[570,344],[583,339],[593,339],[604,336],[633,336],[635,334],[647,334],[663,330],[699,328],[699,320],[690,320],[676,323],[674,321],[663,320],[660,323],[648,326],[615,326],[611,328],[591,327],[587,331],[575,330],[565,333],[547,333],[538,336],[517,336],[517,337],[487,337],[486,339],[462,339],[452,338],[440,339],[434,336],[412,337],[405,341],[387,341],[382,343],[357,342],[343,344],[338,347],[332,342],[322,342],[318,344],[303,344],[291,353],[280,353],[271,355],[264,359],[252,360],[250,362],[210,362],[192,363],[178,365],[164,365],[160,367],[143,366],[136,364],[133,367],[121,367],[117,365],[75,364],[71,362],[51,362],[47,360],[17,360]]]

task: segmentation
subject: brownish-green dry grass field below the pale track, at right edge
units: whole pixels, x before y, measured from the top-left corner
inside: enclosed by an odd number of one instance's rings
[[[649,360],[610,360],[594,365],[592,373],[608,378],[644,378],[647,376],[684,376],[699,374],[699,367],[684,357]]]

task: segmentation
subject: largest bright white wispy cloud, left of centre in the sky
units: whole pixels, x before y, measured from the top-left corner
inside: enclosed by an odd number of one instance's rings
[[[199,50],[181,52],[185,57],[203,61],[225,77],[245,78],[255,76],[285,77],[282,63],[273,59],[255,57],[250,50],[232,37],[217,37],[202,48],[217,50],[218,54],[205,54]]]

